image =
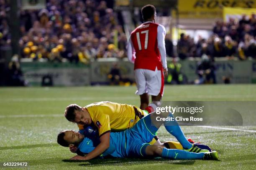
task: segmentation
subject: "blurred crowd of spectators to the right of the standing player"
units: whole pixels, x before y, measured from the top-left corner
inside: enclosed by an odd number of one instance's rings
[[[239,22],[233,18],[228,22],[217,21],[207,40],[200,37],[195,43],[189,35],[182,34],[177,51],[181,59],[206,54],[210,57],[238,57],[246,60],[247,57],[256,58],[255,37],[256,15],[251,15],[249,19],[243,15]]]

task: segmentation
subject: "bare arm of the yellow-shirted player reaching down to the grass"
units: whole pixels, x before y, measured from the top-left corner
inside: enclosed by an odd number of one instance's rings
[[[92,152],[88,153],[82,160],[91,160],[100,154],[102,154],[105,150],[107,150],[110,146],[110,132],[105,133],[100,137],[100,144],[92,150]]]

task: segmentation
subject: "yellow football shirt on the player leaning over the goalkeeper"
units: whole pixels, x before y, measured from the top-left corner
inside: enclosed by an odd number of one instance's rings
[[[93,124],[99,129],[99,136],[110,131],[122,131],[133,127],[140,120],[140,117],[135,114],[134,107],[145,116],[143,110],[133,105],[106,101],[85,106]],[[79,130],[83,129],[83,125],[78,127]]]

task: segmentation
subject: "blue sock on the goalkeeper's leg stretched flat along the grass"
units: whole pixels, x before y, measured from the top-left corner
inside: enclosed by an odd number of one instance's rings
[[[191,153],[179,149],[163,148],[162,158],[175,159],[175,160],[188,160],[188,159],[202,159],[205,153]]]

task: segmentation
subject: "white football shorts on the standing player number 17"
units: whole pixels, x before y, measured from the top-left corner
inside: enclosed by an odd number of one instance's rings
[[[135,80],[137,84],[136,95],[148,93],[148,95],[157,96],[164,93],[164,74],[161,70],[135,69]]]

